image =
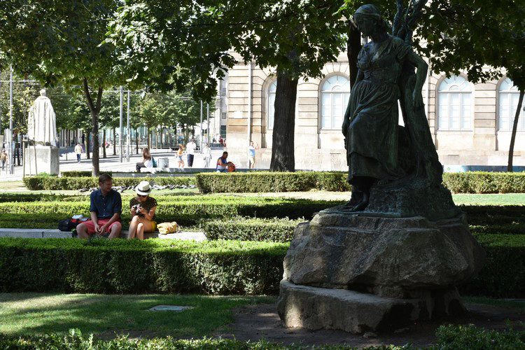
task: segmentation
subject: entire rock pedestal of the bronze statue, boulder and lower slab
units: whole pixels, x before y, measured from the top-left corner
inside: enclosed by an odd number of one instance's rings
[[[383,218],[321,211],[297,225],[278,311],[288,327],[365,332],[462,312],[456,286],[484,263],[463,215]]]

